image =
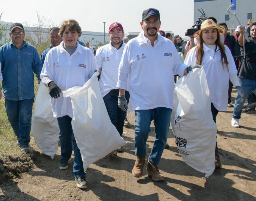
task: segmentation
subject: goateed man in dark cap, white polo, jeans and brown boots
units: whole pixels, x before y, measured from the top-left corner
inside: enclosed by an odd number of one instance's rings
[[[170,127],[173,107],[174,74],[183,76],[191,70],[179,59],[174,44],[158,34],[161,25],[157,9],[149,8],[142,13],[143,31],[125,46],[119,65],[118,107],[128,108],[124,96],[129,88],[132,110],[135,110],[135,155],[132,173],[143,175],[146,142],[154,118],[155,141],[148,158],[147,174],[155,181],[162,181],[160,162]]]

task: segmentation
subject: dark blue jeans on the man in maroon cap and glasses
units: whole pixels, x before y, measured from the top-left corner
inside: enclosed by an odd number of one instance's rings
[[[125,98],[127,103],[129,103],[130,94],[126,93]],[[118,97],[111,96],[109,93],[103,97],[106,109],[108,111],[108,116],[112,124],[116,127],[120,136],[123,135],[124,130],[124,120],[126,112],[121,110],[117,106]]]

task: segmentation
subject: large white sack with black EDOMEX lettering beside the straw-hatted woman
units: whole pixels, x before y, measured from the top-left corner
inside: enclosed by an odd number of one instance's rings
[[[217,127],[203,68],[196,68],[176,83],[179,104],[172,130],[184,162],[210,176],[214,169]]]

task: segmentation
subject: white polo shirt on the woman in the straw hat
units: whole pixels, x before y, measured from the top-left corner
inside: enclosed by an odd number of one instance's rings
[[[210,100],[214,107],[219,111],[226,111],[228,104],[229,75],[237,74],[236,65],[233,56],[227,46],[225,54],[228,59],[228,68],[221,63],[221,53],[217,47],[216,52],[203,44],[204,56],[202,66],[206,74],[207,84],[210,91]],[[195,65],[197,60],[197,47],[189,50],[184,64]]]

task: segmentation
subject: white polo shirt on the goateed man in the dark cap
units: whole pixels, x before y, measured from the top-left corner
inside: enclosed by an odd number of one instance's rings
[[[128,83],[132,110],[172,108],[174,75],[183,76],[187,67],[181,63],[174,44],[157,36],[154,47],[141,32],[124,48],[117,87],[126,89]]]

